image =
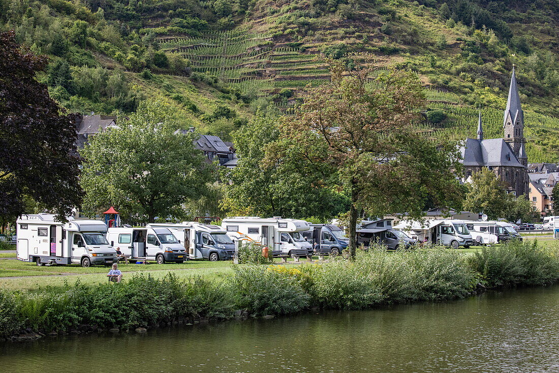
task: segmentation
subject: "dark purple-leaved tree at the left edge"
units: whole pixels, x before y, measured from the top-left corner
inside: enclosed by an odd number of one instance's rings
[[[64,220],[82,199],[75,116],[36,80],[47,63],[0,34],[0,216],[24,213],[29,196]]]

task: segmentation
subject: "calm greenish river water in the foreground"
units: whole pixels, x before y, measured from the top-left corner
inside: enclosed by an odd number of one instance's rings
[[[559,286],[0,343],[1,372],[559,372]]]

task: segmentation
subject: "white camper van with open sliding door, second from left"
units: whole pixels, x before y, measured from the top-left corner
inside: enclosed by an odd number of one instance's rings
[[[183,245],[167,228],[109,228],[107,240],[132,259],[183,263]]]

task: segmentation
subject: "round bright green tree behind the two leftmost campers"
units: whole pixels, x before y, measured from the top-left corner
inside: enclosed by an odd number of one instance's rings
[[[82,151],[83,211],[114,205],[125,219],[182,219],[183,204],[205,195],[212,164],[193,145],[191,133],[175,133],[172,108],[144,101],[117,128],[95,135]]]

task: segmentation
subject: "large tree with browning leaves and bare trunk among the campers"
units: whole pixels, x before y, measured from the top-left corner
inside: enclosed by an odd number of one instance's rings
[[[331,81],[311,89],[295,116],[284,117],[283,141],[272,152],[299,151],[338,173],[350,196],[349,254],[356,253],[356,224],[369,216],[407,213],[419,217],[425,203],[453,204],[459,188],[456,144],[435,143],[414,122],[425,105],[416,75],[389,69],[345,72],[330,61]],[[336,180],[336,179],[334,179]]]

